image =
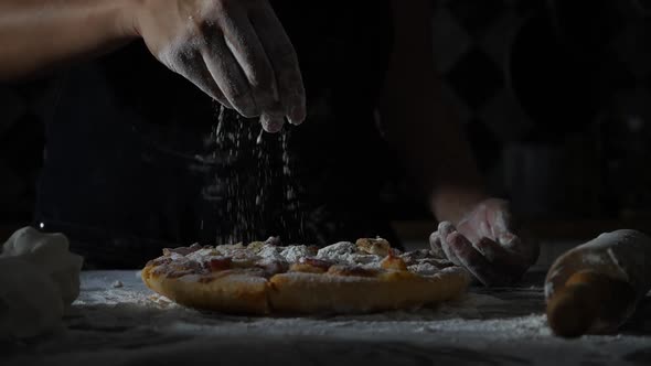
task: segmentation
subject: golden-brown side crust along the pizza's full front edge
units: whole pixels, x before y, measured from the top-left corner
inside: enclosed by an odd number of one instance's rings
[[[260,277],[264,279],[262,288],[248,287],[245,281],[234,284],[226,280],[232,279],[228,276],[209,283],[154,276],[153,268],[148,265],[141,271],[146,286],[182,305],[260,315],[367,313],[431,306],[461,295],[470,284],[470,274],[462,268],[450,268],[434,276],[397,276],[392,280],[363,277],[324,280],[322,273],[287,272],[270,279]],[[224,291],[218,288],[222,284],[232,288],[226,291],[228,294],[222,295]],[[425,294],[419,294],[423,292]]]

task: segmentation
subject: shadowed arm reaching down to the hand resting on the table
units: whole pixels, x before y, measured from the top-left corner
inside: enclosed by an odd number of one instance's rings
[[[381,114],[389,142],[420,183],[436,217],[456,223],[485,193],[461,125],[441,93],[429,10],[423,4],[394,10],[397,41]]]

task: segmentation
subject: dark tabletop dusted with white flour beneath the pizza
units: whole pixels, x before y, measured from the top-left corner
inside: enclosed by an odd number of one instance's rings
[[[154,295],[137,271],[89,271],[56,334],[1,344],[2,365],[650,365],[651,301],[621,333],[551,335],[541,273],[472,287],[431,310],[357,316],[202,313]]]

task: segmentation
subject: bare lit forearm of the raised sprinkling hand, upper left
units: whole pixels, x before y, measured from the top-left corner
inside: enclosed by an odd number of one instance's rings
[[[0,80],[118,47],[136,36],[134,0],[0,0]]]

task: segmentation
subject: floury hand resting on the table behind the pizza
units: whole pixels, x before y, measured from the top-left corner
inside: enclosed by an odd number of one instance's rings
[[[508,202],[497,198],[477,204],[456,227],[441,222],[429,244],[485,286],[516,282],[540,254],[536,243],[514,233]]]

